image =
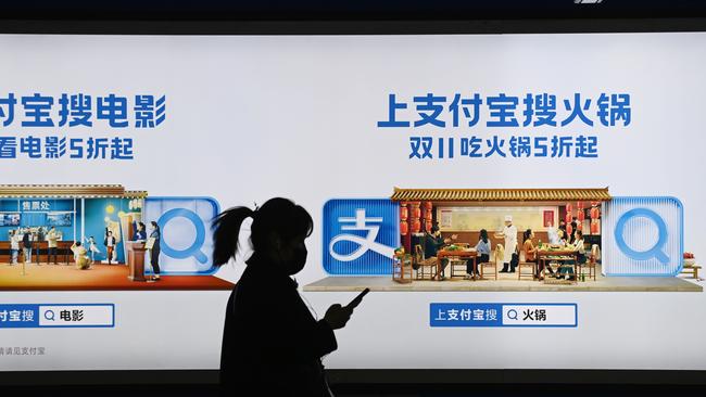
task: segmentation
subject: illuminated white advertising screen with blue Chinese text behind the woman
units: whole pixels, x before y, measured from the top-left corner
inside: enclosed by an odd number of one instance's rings
[[[275,196],[315,317],[370,289],[327,368],[706,370],[706,34],[0,50],[0,371],[218,369],[211,226]]]

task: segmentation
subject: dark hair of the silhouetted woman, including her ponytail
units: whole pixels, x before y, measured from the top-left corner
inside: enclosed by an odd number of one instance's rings
[[[298,236],[308,236],[314,220],[306,209],[281,197],[268,200],[262,207],[232,207],[220,213],[213,221],[213,264],[224,265],[238,252],[238,234],[245,218],[251,217],[250,242],[254,252],[268,249],[270,233],[289,242]]]

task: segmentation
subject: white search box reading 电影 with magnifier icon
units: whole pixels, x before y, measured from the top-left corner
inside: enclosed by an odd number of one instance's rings
[[[41,305],[39,326],[114,326],[115,306]]]

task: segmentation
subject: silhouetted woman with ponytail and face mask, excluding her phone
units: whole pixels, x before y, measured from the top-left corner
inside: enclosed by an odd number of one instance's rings
[[[291,276],[306,264],[312,217],[286,198],[255,210],[230,208],[214,222],[215,265],[235,257],[248,217],[254,253],[226,307],[223,395],[329,396],[320,359],[336,350],[333,330],[345,325],[352,309],[333,305],[316,321],[297,291]]]

